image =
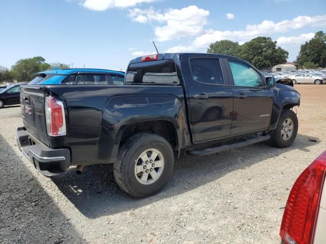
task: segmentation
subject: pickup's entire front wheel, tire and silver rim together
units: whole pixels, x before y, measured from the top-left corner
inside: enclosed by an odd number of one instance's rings
[[[275,147],[289,147],[296,138],[298,121],[292,110],[284,110],[279,119],[277,128],[269,132],[269,144]]]

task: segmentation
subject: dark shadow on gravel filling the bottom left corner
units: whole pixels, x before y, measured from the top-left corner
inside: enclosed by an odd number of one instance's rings
[[[25,166],[18,147],[2,135],[0,145],[0,242],[87,243]]]

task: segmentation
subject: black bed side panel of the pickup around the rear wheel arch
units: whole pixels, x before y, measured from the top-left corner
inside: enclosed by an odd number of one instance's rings
[[[168,120],[175,125],[178,144],[186,143],[181,86],[60,85],[46,89],[67,103],[69,133],[61,143],[70,148],[72,165],[114,162],[124,129],[142,121]]]

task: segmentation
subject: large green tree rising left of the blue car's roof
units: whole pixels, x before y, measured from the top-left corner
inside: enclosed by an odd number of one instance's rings
[[[35,73],[49,70],[50,65],[45,63],[43,57],[32,57],[19,59],[15,65],[11,67],[14,78],[18,81],[30,81],[35,77]]]

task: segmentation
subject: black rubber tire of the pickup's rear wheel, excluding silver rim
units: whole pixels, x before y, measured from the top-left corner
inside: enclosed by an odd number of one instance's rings
[[[135,176],[135,165],[138,157],[149,148],[160,151],[164,157],[164,168],[155,182],[143,185]],[[173,150],[166,139],[155,134],[139,133],[120,147],[113,169],[118,185],[130,196],[139,198],[153,195],[164,188],[172,176],[173,166]]]

